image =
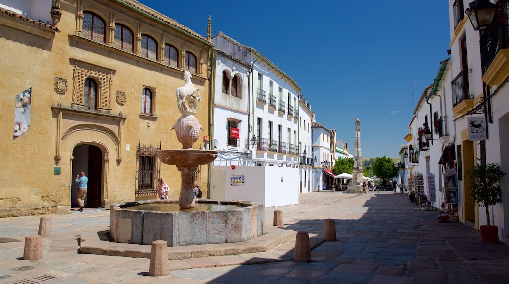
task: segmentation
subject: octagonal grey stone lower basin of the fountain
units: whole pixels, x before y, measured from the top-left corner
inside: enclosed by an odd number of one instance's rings
[[[110,239],[119,243],[150,245],[163,240],[168,246],[237,243],[263,234],[264,206],[247,201],[199,200],[198,204],[231,205],[220,211],[182,209],[174,212],[128,209],[139,204],[178,201],[146,200],[111,204]]]

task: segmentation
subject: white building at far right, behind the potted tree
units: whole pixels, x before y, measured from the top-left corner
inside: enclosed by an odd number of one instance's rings
[[[498,163],[504,201],[490,209],[498,237],[509,244],[509,5],[494,1],[494,21],[475,31],[466,10],[470,1],[449,0],[451,78],[446,87],[452,97],[455,152],[457,155],[460,221],[475,229],[486,224],[484,208],[478,208],[468,190],[466,171],[480,163]],[[493,1],[492,1],[493,3]],[[473,7],[471,7],[473,8]],[[473,10],[473,9],[472,9]],[[472,14],[473,15],[473,14]],[[475,122],[473,122],[475,120]],[[485,137],[472,132],[484,128]]]

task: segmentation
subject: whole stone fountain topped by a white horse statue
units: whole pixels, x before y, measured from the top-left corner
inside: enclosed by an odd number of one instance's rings
[[[194,117],[201,97],[189,71],[184,80],[184,87],[176,91],[182,115],[173,126],[182,149],[156,152],[159,160],[176,165],[180,172],[180,210],[166,210],[176,203],[168,200],[112,204],[109,236],[114,242],[150,245],[164,240],[168,246],[184,246],[244,242],[263,234],[263,204],[201,199],[195,208],[192,176],[199,165],[214,161],[218,151],[192,149],[202,131]],[[207,209],[202,210],[204,206]]]

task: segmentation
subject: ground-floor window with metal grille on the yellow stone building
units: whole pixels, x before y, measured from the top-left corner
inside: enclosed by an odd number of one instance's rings
[[[159,146],[142,145],[136,146],[136,196],[147,196],[156,194],[157,179],[160,175],[161,162],[156,157],[156,151],[161,150]]]

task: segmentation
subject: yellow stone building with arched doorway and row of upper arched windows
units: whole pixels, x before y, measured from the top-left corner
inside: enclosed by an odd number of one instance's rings
[[[0,217],[70,213],[80,172],[85,207],[155,198],[158,177],[177,199],[180,173],[154,151],[182,148],[172,127],[185,70],[210,135],[212,48],[131,0],[0,1]],[[206,189],[207,165],[195,180]]]

